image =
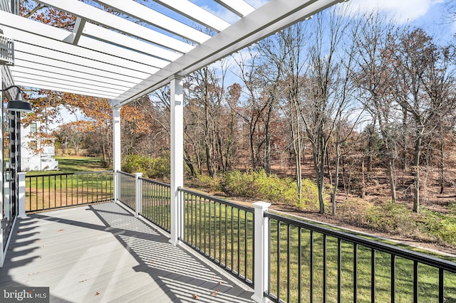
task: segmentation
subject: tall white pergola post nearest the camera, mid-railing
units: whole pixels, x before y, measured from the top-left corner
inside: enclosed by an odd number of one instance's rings
[[[178,76],[171,82],[171,226],[170,243],[180,243],[181,216],[178,188],[184,186],[184,93],[183,80]]]

